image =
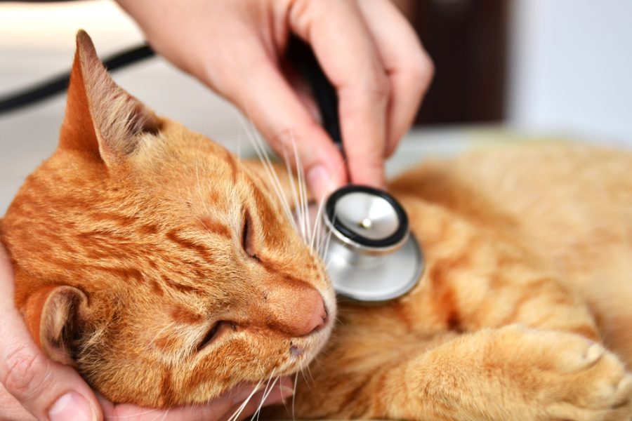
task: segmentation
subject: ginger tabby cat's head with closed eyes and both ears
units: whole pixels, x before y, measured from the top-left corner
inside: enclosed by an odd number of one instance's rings
[[[79,32],[58,150],[2,221],[34,339],[144,406],[298,370],[327,340],[334,293],[272,191],[119,88]]]

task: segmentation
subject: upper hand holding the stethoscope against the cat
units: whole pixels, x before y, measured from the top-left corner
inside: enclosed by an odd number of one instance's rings
[[[385,186],[433,65],[388,0],[117,0],[164,57],[234,102],[270,145],[294,141],[313,194]],[[289,34],[315,52],[339,99],[347,165],[284,72]]]

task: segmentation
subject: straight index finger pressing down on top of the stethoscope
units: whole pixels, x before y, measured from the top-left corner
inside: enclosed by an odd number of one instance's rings
[[[291,28],[336,87],[351,181],[384,187],[389,81],[355,1],[294,1]]]

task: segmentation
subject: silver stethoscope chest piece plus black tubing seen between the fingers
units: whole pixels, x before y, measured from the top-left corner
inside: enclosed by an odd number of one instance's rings
[[[312,88],[322,124],[342,151],[334,86],[311,48],[296,36],[290,38],[288,58]],[[342,187],[326,199],[322,219],[330,236],[324,263],[339,297],[387,302],[419,283],[421,247],[410,232],[406,211],[387,192],[360,185]]]

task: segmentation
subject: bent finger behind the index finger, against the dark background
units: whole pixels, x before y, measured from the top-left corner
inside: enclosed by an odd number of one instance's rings
[[[412,26],[391,1],[362,0],[357,4],[390,79],[386,142],[386,156],[390,156],[412,125],[433,78],[434,65]]]

